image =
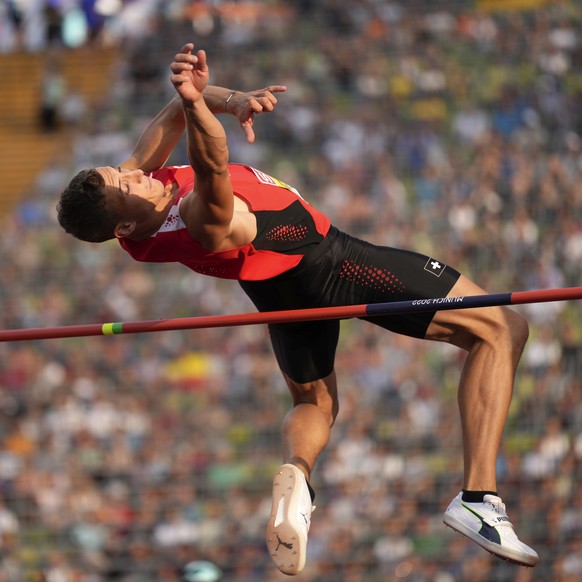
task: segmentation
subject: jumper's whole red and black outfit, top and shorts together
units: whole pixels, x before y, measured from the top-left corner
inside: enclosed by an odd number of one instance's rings
[[[255,239],[209,252],[189,235],[180,203],[194,188],[190,166],[152,176],[179,192],[162,227],[142,241],[120,239],[136,260],[180,262],[193,271],[235,279],[259,311],[444,297],[459,273],[412,251],[380,247],[347,235],[291,186],[255,168],[229,164],[234,195],[257,221]],[[424,337],[434,312],[365,318],[397,333]],[[274,324],[271,341],[281,369],[297,382],[331,373],[338,320]]]

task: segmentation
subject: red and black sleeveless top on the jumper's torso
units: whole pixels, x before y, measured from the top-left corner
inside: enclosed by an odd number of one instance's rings
[[[164,224],[142,241],[119,239],[136,260],[180,262],[193,271],[243,281],[270,279],[297,266],[305,253],[321,242],[330,228],[327,216],[294,189],[250,166],[229,164],[232,187],[257,221],[257,235],[244,246],[210,252],[188,233],[180,203],[194,188],[190,166],[162,168],[152,176],[178,185],[178,195]]]

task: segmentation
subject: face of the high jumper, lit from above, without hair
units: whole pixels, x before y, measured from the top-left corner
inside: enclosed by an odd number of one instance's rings
[[[171,188],[143,170],[104,166],[97,171],[105,181],[107,207],[122,217],[122,227],[116,235],[141,236],[152,230],[155,232],[172,204]]]

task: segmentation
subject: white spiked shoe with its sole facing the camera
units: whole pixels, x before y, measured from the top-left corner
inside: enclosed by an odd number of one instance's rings
[[[265,538],[269,554],[283,574],[294,576],[305,567],[314,509],[305,475],[295,465],[281,465],[273,479],[273,505]]]

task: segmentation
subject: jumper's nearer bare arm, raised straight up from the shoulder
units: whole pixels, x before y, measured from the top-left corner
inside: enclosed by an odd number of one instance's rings
[[[170,65],[170,80],[186,121],[188,159],[196,174],[194,192],[182,201],[180,214],[188,232],[206,249],[216,251],[248,242],[248,215],[235,217],[226,132],[203,97],[208,84],[206,53],[193,54],[193,50],[192,43],[184,45]]]

